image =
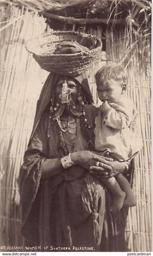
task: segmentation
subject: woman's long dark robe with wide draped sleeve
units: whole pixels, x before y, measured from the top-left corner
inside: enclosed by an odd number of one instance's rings
[[[94,119],[94,106],[90,105],[90,111]],[[95,251],[127,251],[124,237],[127,208],[111,213],[111,194],[100,182],[97,182],[99,241],[95,244],[92,214],[87,214],[84,210],[81,197],[87,170],[72,166],[50,179],[41,178],[42,161],[61,157],[58,153],[58,129],[52,123],[50,139],[47,140],[47,127],[48,114],[43,114],[20,170],[23,236],[32,246],[42,245],[42,248],[93,246]],[[88,150],[82,132],[81,139],[84,150]],[[131,165],[125,174],[129,181],[132,180],[132,169]]]

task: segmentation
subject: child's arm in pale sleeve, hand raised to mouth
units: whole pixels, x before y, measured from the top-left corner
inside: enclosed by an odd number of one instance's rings
[[[104,123],[114,129],[123,129],[132,122],[132,108],[128,109],[115,103],[108,104],[107,101],[99,108],[105,114]]]

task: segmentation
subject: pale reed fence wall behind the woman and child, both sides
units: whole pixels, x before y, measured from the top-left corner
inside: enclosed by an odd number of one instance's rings
[[[1,10],[0,10],[1,12]],[[36,12],[15,8],[0,15],[1,32],[1,206],[0,245],[24,245],[20,235],[19,169],[35,115],[36,101],[48,72],[27,54],[24,42],[46,29]],[[8,21],[9,20],[9,21]],[[3,23],[2,23],[3,22]],[[102,38],[102,28],[88,33]],[[123,61],[129,72],[128,95],[140,112],[144,147],[135,159],[133,190],[137,206],[129,209],[126,240],[129,251],[151,251],[151,135],[150,135],[150,38],[131,37],[129,30],[107,30],[106,52],[99,53],[89,74],[90,88],[98,103],[94,74],[107,62]]]

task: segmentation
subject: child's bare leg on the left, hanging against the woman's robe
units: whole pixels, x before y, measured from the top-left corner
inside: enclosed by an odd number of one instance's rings
[[[110,211],[120,211],[126,196],[125,192],[119,187],[119,184],[114,177],[102,178],[101,181],[113,193],[113,203]]]

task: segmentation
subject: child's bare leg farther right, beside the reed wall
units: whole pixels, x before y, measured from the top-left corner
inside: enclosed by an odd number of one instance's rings
[[[122,175],[122,173],[117,174],[115,178],[121,189],[126,193],[123,205],[130,207],[136,206],[136,198],[127,179]]]

